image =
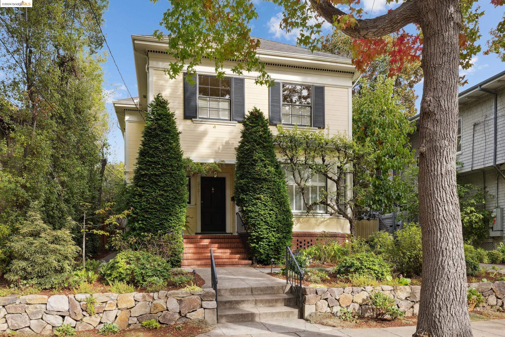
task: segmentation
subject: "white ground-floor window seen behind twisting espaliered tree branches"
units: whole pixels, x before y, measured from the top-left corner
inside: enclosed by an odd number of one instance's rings
[[[293,172],[288,165],[282,165],[282,170],[286,175],[286,185],[289,195],[289,203],[291,204],[291,211],[293,213],[306,213],[307,207],[304,203],[304,198],[301,196],[300,189],[293,178]],[[297,173],[295,173],[297,174]],[[326,178],[322,174],[313,174],[310,179],[310,169],[306,168],[302,171],[302,181],[305,182],[305,199],[311,204],[319,201],[324,197],[326,191]],[[297,177],[299,181],[299,177]],[[326,213],[326,206],[317,205],[312,210],[312,213]]]

